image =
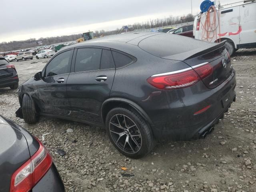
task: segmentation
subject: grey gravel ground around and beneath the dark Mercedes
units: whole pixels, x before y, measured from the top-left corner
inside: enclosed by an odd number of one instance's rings
[[[47,61],[12,62],[20,84]],[[24,123],[15,117],[19,108],[16,90],[0,89],[0,114],[40,140],[42,134],[50,132],[44,143],[67,192],[255,192],[256,49],[238,50],[232,64],[237,99],[214,133],[204,140],[158,143],[151,154],[139,160],[119,154],[101,128],[44,117],[34,125]],[[61,156],[57,150],[66,154]]]

